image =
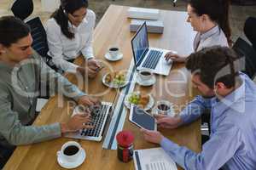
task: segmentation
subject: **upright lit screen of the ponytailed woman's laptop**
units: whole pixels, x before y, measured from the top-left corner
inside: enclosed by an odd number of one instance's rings
[[[136,35],[131,40],[131,48],[135,59],[135,64],[143,59],[144,52],[148,49],[148,32],[146,22],[143,23]]]

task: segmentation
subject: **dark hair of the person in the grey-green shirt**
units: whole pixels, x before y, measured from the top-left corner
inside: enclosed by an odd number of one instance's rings
[[[12,43],[20,38],[28,36],[30,27],[15,16],[3,16],[0,18],[0,43],[9,48]]]

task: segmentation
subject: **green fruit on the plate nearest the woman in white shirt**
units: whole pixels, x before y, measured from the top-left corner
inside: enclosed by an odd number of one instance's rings
[[[108,75],[105,77],[105,81],[107,83],[123,85],[125,83],[125,72],[116,71],[113,73],[108,73]]]

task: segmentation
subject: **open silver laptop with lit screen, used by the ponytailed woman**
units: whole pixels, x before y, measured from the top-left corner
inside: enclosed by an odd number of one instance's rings
[[[132,38],[131,48],[137,71],[148,68],[155,74],[165,76],[169,74],[172,68],[172,60],[166,61],[165,55],[170,51],[161,48],[149,48],[146,22]]]

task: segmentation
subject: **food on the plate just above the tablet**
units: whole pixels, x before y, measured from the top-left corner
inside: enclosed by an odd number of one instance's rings
[[[131,104],[140,105],[142,108],[145,108],[149,102],[149,95],[134,92],[131,94],[128,101]]]

